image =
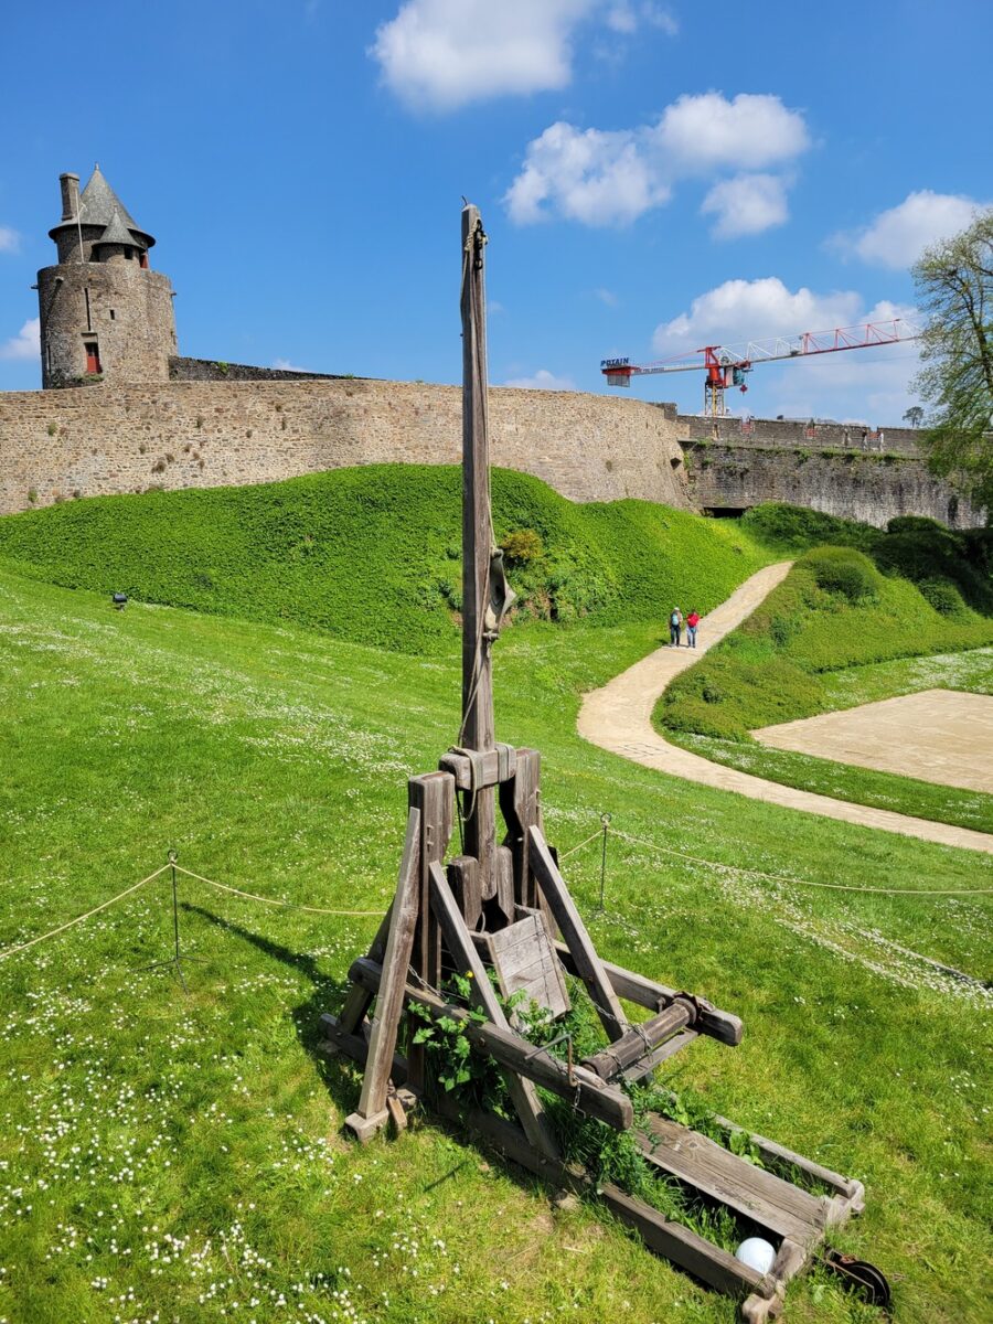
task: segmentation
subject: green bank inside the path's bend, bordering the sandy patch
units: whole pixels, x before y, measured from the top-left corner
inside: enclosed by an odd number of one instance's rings
[[[828,532],[837,536],[839,530],[829,528]],[[886,535],[865,528],[863,532],[871,535],[869,549],[887,565]],[[927,552],[929,535],[927,530],[923,532]],[[888,542],[899,543],[899,539]],[[866,569],[871,572],[873,568],[866,563]],[[655,710],[655,722],[677,743],[773,781],[990,831],[993,796],[767,749],[749,736],[749,731],[764,726],[883,698],[880,683],[884,687],[890,674],[878,671],[871,696],[863,695],[858,679],[853,679],[863,667],[940,653],[949,643],[960,649],[993,643],[993,613],[984,596],[982,580],[973,575],[968,563],[949,557],[945,569],[963,575],[967,589],[982,610],[961,602],[952,616],[937,612],[927,600],[927,581],[922,591],[918,584],[895,575],[892,567],[888,569],[888,576],[876,576],[873,600],[850,601],[818,587],[813,564],[801,557],[748,621],[670,686]],[[936,679],[933,661],[920,674],[924,671],[928,679],[910,688],[955,685],[952,661],[944,669],[944,679]],[[891,694],[908,692],[907,687],[900,688],[895,675],[890,675],[890,681],[894,685]]]

